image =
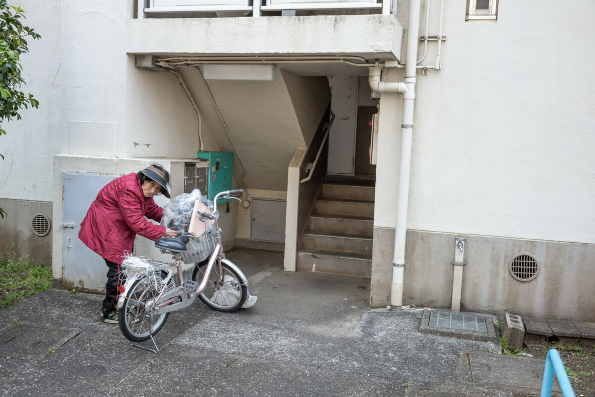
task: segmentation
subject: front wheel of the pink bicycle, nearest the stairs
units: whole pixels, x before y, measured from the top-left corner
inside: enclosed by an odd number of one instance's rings
[[[215,287],[215,282],[219,274],[218,266],[215,263],[205,289],[198,295],[201,301],[213,310],[224,312],[236,311],[242,307],[246,298],[248,298],[248,287],[242,284],[242,279],[229,264],[233,265],[233,262],[227,259],[221,260],[224,276],[223,285],[218,288]],[[195,282],[201,282],[207,265],[208,260],[195,264],[194,272],[192,273],[192,279]]]

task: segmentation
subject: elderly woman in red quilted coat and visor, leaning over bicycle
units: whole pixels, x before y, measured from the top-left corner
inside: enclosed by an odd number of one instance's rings
[[[179,232],[149,222],[161,221],[163,208],[153,197],[170,198],[167,184],[170,174],[159,164],[152,164],[139,173],[124,175],[109,182],[91,203],[80,224],[79,239],[104,258],[108,265],[105,299],[101,316],[106,323],[118,323],[115,304],[118,300],[120,264],[132,252],[134,237],[151,240],[176,237]]]

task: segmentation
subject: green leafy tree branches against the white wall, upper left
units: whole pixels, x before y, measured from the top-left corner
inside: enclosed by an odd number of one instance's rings
[[[25,82],[21,77],[21,54],[29,52],[25,37],[39,39],[41,36],[33,29],[23,26],[25,11],[20,7],[8,5],[0,0],[0,121],[10,121],[13,117],[20,120],[21,109],[39,107],[33,94],[20,90]],[[6,131],[0,127],[0,135]],[[4,158],[4,156],[0,155]]]

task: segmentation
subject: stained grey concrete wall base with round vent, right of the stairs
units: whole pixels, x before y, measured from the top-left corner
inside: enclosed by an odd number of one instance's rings
[[[403,304],[450,309],[455,237],[465,237],[461,311],[594,321],[595,245],[409,230]],[[392,261],[394,229],[374,229],[373,260]],[[390,249],[386,249],[391,247]],[[390,252],[389,252],[390,251]],[[509,266],[533,255],[538,274],[520,282]],[[372,274],[373,306],[390,302],[392,266]]]

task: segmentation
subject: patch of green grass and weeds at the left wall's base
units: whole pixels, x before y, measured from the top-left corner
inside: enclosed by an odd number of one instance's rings
[[[0,308],[17,304],[52,287],[52,269],[29,255],[0,258]]]

